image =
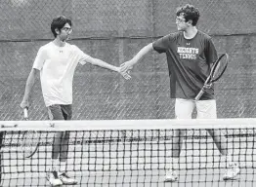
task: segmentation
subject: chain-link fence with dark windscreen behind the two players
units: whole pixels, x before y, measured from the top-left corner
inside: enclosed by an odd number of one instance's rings
[[[198,7],[198,28],[213,37],[231,62],[217,84],[220,118],[254,117],[256,87],[254,0],[1,0],[0,118],[21,120],[21,98],[34,57],[53,39],[50,23],[72,19],[70,43],[90,56],[119,66],[149,42],[177,30],[176,8]],[[73,119],[173,118],[166,57],[149,54],[125,81],[92,65],[78,66],[73,83]],[[34,87],[31,120],[47,119],[40,82]]]

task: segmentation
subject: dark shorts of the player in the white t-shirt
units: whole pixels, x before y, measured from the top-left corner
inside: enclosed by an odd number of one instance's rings
[[[71,120],[72,105],[54,104],[47,107],[50,120]]]

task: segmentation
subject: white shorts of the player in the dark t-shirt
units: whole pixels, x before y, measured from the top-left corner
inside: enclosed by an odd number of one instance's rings
[[[216,119],[216,100],[197,100],[176,98],[175,116],[176,119],[192,119],[192,111],[196,107],[197,119]]]

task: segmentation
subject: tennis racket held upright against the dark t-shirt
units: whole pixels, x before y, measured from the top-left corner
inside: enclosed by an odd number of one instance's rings
[[[213,66],[210,71],[210,75],[207,77],[202,89],[195,96],[194,100],[199,100],[201,95],[205,93],[207,89],[210,89],[212,87],[212,83],[218,81],[222,77],[225,70],[227,69],[228,62],[229,62],[228,54],[223,54],[219,56],[219,58],[213,63]]]

